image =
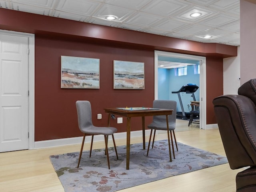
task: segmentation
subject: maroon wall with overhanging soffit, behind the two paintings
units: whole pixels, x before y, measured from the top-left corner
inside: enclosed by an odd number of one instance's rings
[[[237,47],[200,43],[107,26],[76,22],[0,8],[0,28],[35,34],[35,141],[81,136],[76,100],[90,100],[93,123],[106,126],[103,108],[152,106],[154,50],[206,56],[206,124],[216,123],[212,99],[223,94],[223,58],[237,56]],[[60,88],[60,56],[100,59],[100,89]],[[145,63],[144,90],[113,89],[113,60]],[[96,114],[103,115],[102,120]],[[146,117],[146,125],[152,117]],[[123,124],[111,125],[118,132]],[[132,118],[132,130],[141,119]]]

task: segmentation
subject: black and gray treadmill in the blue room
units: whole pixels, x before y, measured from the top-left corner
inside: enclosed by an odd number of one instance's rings
[[[181,97],[180,97],[180,92],[186,92],[186,94],[192,94],[193,100],[196,101],[196,98],[194,96],[194,92],[196,92],[196,90],[198,90],[198,88],[199,87],[196,84],[190,83],[190,84],[186,84],[186,85],[182,86],[180,88],[180,90],[178,90],[178,91],[172,91],[172,93],[177,93],[178,94],[178,98],[179,98],[179,101],[180,101],[180,107],[181,107],[181,110],[182,110],[182,112],[177,112],[177,114],[176,114],[177,118],[182,118],[182,119],[186,120],[186,119],[189,119],[189,117],[190,117],[189,112],[184,112],[182,100],[181,100]]]

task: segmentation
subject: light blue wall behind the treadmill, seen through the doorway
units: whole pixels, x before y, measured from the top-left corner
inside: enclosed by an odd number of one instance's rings
[[[178,94],[172,91],[178,91],[183,85],[193,83],[199,87],[200,74],[194,74],[194,65],[189,65],[187,68],[187,75],[175,76],[175,69],[158,68],[158,99],[162,100],[175,100],[177,102],[177,111],[181,111],[180,101]],[[195,98],[199,101],[200,91],[199,88],[194,92]],[[180,92],[183,108],[185,112],[189,112],[188,104],[193,101],[191,94]]]

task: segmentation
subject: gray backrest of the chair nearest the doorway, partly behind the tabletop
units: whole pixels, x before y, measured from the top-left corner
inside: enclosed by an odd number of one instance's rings
[[[168,123],[169,126],[176,125],[176,107],[177,102],[172,100],[154,100],[153,101],[153,108],[162,108],[162,109],[172,109],[172,115],[168,115]],[[153,121],[155,122],[166,122],[165,115],[153,116]]]

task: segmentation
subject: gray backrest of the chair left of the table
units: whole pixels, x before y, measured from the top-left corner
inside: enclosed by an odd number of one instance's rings
[[[78,127],[81,131],[93,126],[92,108],[89,101],[76,101]]]

